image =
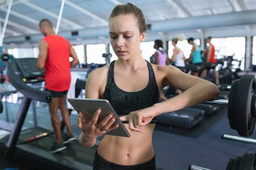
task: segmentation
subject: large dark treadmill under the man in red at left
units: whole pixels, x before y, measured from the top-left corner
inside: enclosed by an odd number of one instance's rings
[[[78,140],[66,144],[67,148],[58,153],[48,150],[56,141],[52,131],[42,127],[21,130],[31,100],[51,102],[51,94],[32,88],[32,84],[44,81],[44,71],[36,67],[36,58],[21,58],[9,62],[9,82],[24,95],[12,132],[0,139],[0,153],[6,159],[26,164],[32,169],[92,170],[97,146],[85,148]],[[49,122],[51,123],[51,122]],[[78,139],[78,138],[77,138]],[[99,140],[99,139],[98,139]]]

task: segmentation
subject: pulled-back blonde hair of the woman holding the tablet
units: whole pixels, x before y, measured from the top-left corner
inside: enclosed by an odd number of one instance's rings
[[[132,3],[117,5],[115,8],[113,8],[113,11],[111,12],[109,20],[119,15],[128,15],[128,14],[132,14],[137,19],[137,26],[140,30],[140,34],[148,31],[148,27],[147,27],[143,12],[141,11],[140,8],[133,5]]]

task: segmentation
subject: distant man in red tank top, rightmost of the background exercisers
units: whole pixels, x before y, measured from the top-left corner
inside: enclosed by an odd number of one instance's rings
[[[206,62],[210,62],[210,63],[216,63],[217,60],[215,58],[215,48],[211,43],[212,37],[207,37],[206,41],[209,43],[209,47],[206,50]],[[205,79],[207,76],[209,70],[204,69],[203,73],[202,73],[202,79]],[[215,84],[217,86],[220,85],[220,80],[219,80],[219,76],[218,76],[218,72],[215,70],[215,68],[213,69],[213,73],[215,75]]]

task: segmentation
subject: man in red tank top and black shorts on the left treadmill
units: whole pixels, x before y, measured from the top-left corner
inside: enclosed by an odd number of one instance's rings
[[[39,27],[45,37],[38,45],[37,67],[45,70],[45,89],[52,94],[49,112],[57,142],[50,148],[50,152],[55,153],[65,149],[65,143],[76,139],[71,132],[70,117],[65,102],[71,82],[70,68],[79,64],[79,60],[68,40],[55,34],[52,23],[49,20],[41,20]],[[69,60],[70,57],[73,58],[72,62]],[[67,134],[63,141],[61,138],[61,121],[58,116],[58,109],[60,109],[62,118],[67,126]]]

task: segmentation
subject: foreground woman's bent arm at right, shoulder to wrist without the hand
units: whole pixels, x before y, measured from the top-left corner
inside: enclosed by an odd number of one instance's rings
[[[218,87],[212,82],[183,73],[175,67],[161,66],[159,68],[161,72],[166,73],[163,86],[171,86],[184,92],[165,102],[155,104],[153,108],[156,116],[198,105],[220,94]]]

